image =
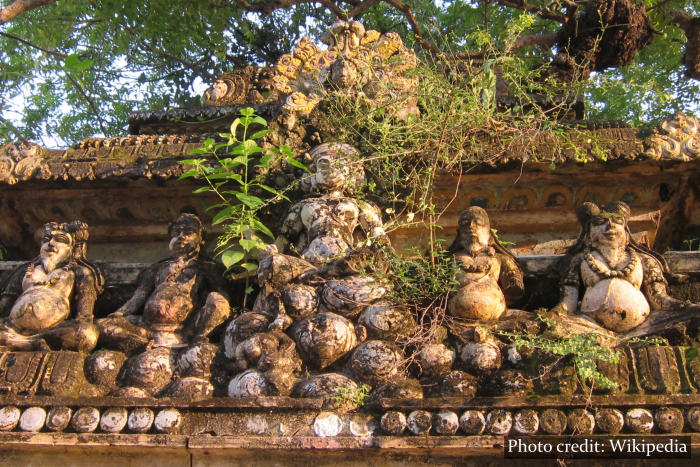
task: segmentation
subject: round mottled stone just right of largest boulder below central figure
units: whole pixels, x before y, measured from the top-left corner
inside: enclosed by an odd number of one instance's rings
[[[395,344],[372,340],[357,346],[350,357],[350,368],[359,381],[377,386],[399,376],[402,361],[401,349]]]

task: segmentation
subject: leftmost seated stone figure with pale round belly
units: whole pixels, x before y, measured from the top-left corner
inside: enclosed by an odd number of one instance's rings
[[[89,352],[97,344],[93,309],[104,279],[86,258],[88,226],[44,225],[39,257],[2,284],[0,346]]]

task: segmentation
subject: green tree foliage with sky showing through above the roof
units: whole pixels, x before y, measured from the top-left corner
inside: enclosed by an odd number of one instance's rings
[[[589,117],[640,124],[673,110],[697,112],[700,85],[683,60],[699,8],[695,0],[643,1],[651,44],[631,64],[593,73]],[[124,134],[129,112],[198,105],[219,73],[272,64],[336,17],[396,31],[424,57],[460,60],[481,52],[475,32],[505,43],[509,22],[528,11],[535,20],[515,53],[551,62],[561,52],[555,33],[589,2],[7,0],[0,2],[0,138],[70,144]],[[599,2],[618,8],[623,0]]]

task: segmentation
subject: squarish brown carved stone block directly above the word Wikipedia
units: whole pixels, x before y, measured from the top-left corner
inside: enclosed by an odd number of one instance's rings
[[[642,347],[634,351],[639,382],[645,391],[675,394],[681,379],[672,347]]]

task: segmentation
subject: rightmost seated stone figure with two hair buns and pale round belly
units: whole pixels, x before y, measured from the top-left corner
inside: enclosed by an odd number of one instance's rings
[[[579,321],[581,332],[602,327],[635,336],[700,312],[700,305],[668,295],[666,264],[632,238],[627,204],[618,201],[601,209],[585,203],[577,215],[582,231],[567,252],[568,268],[555,314],[585,317],[588,322]],[[574,322],[570,324],[569,330],[576,332]]]

